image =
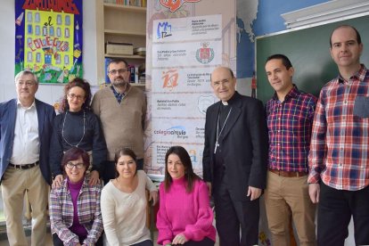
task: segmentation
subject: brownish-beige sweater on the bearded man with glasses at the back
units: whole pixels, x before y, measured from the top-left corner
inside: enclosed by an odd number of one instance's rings
[[[143,159],[143,124],[147,109],[143,91],[129,86],[119,104],[111,87],[105,87],[94,94],[92,108],[102,122],[108,160],[114,160],[115,152],[123,147],[132,149],[137,159]]]

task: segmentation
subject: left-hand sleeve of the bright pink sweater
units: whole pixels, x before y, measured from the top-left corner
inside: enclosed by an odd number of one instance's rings
[[[171,225],[170,222],[168,221],[168,217],[167,217],[167,211],[165,208],[165,189],[164,189],[164,183],[160,184],[160,203],[159,203],[159,211],[158,211],[158,215],[157,215],[157,220],[156,220],[156,227],[158,228],[159,234],[158,234],[158,244],[168,244],[170,242],[172,242],[174,236],[173,236],[173,232],[171,229]]]

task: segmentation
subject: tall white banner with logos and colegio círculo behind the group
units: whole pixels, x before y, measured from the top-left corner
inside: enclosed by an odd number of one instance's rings
[[[235,4],[214,1],[149,1],[147,8],[145,168],[152,179],[164,175],[173,145],[190,154],[202,176],[204,125],[217,102],[210,74],[218,66],[235,71]],[[171,4],[170,4],[171,3]],[[209,8],[211,4],[211,8]]]

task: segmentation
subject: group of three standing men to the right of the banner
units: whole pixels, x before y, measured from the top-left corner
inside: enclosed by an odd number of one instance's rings
[[[235,91],[232,70],[211,74],[220,101],[207,111],[202,165],[220,245],[258,244],[263,191],[272,245],[290,245],[292,222],[299,245],[344,245],[351,217],[356,244],[369,245],[369,70],[357,29],[333,29],[330,52],[340,73],[319,98],[292,83],[286,55],[269,56],[264,109]]]

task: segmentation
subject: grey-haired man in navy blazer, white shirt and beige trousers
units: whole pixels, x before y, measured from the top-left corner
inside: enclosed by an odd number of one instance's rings
[[[17,99],[0,103],[0,171],[6,230],[10,245],[27,245],[23,230],[24,193],[32,207],[32,245],[45,245],[49,147],[55,111],[35,99],[37,77],[15,76]]]

